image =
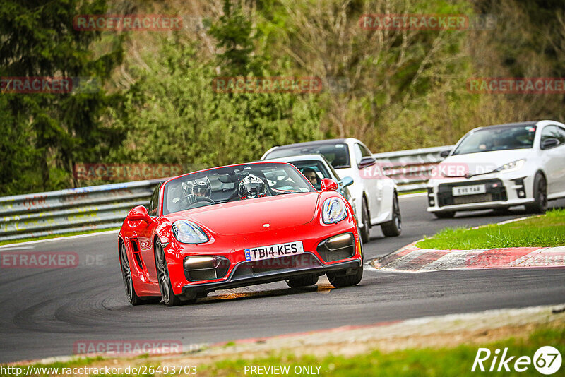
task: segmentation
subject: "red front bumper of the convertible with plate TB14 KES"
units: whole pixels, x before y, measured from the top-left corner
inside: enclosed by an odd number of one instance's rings
[[[327,239],[340,234],[352,234],[354,246],[351,253],[333,249],[329,253],[321,247]],[[288,260],[287,257],[266,259],[263,262],[246,262],[244,249],[253,249],[273,244],[285,244],[293,241],[302,241],[304,253],[294,256],[308,256],[307,259],[298,261]],[[336,245],[337,246],[337,245]],[[326,225],[319,219],[307,224],[285,229],[265,229],[255,233],[239,236],[222,236],[219,234],[210,237],[206,244],[184,245],[172,240],[165,249],[167,268],[174,294],[184,292],[211,292],[222,287],[241,287],[263,282],[286,280],[289,276],[319,273],[327,271],[344,270],[350,268],[348,262],[354,261],[357,266],[362,263],[362,250],[357,225],[352,216],[338,223]],[[186,274],[183,266],[184,258],[191,256],[215,256],[229,261],[227,271],[205,277],[199,275],[193,279],[192,273]],[[292,255],[290,255],[292,256]],[[289,257],[290,257],[289,256]],[[314,258],[315,257],[315,258]],[[306,258],[306,257],[302,257]],[[277,265],[278,262],[281,263]],[[342,265],[342,263],[346,263]]]

